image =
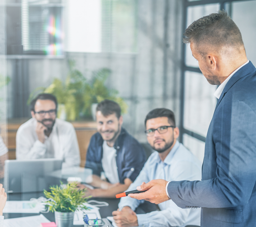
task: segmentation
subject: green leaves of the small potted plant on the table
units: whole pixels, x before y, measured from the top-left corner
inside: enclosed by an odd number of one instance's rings
[[[62,184],[62,182],[61,182]],[[77,188],[77,183],[68,183],[66,186],[51,186],[50,192],[43,193],[50,201],[46,201],[46,207],[54,212],[75,212],[78,209],[88,210],[84,203],[89,197],[85,197],[86,189]]]

